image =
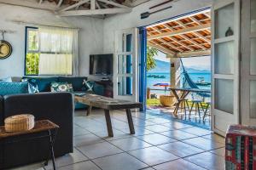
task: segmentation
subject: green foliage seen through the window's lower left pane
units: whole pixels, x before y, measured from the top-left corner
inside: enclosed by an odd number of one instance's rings
[[[26,75],[38,75],[39,55],[38,53],[26,54]]]

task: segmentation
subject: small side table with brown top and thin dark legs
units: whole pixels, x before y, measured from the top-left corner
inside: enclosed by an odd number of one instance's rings
[[[49,154],[51,156],[53,168],[55,170],[56,168],[55,168],[54,143],[55,143],[55,137],[57,135],[58,128],[59,128],[58,125],[56,125],[53,122],[50,122],[49,120],[35,122],[35,126],[31,130],[15,132],[15,133],[6,132],[5,127],[1,126],[0,127],[0,144],[13,144],[13,143],[21,142],[24,140],[49,138]],[[42,133],[42,132],[48,132],[48,135],[45,135],[45,133]],[[38,135],[34,135],[35,133],[37,133]],[[26,138],[20,138],[20,139],[18,138],[19,136],[21,137],[25,135],[26,135]],[[15,137],[15,140],[6,141],[6,139],[10,139],[14,137]],[[19,154],[22,154],[22,153],[19,153]],[[48,161],[49,161],[49,155],[47,156],[44,165],[48,165]],[[1,165],[0,165],[0,169],[2,169]]]

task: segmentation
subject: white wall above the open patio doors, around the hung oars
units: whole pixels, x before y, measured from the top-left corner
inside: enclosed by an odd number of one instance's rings
[[[172,3],[172,8],[152,14],[147,19],[140,19],[140,14],[147,12],[149,7],[161,2],[164,2],[164,0],[151,0],[148,3],[143,3],[133,8],[129,14],[119,14],[104,20],[104,53],[114,53],[114,32],[117,30],[146,26],[160,20],[175,17],[179,14],[205,8],[212,4],[212,0],[179,0],[176,3]],[[166,4],[163,7],[169,5]]]

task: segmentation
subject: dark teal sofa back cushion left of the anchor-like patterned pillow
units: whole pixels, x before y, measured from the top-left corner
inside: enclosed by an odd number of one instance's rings
[[[73,91],[81,91],[84,80],[87,80],[87,77],[59,77],[59,82],[72,83]]]

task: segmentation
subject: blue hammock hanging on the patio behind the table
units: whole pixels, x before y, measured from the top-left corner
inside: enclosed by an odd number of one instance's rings
[[[193,82],[193,80],[191,79],[191,77],[189,77],[189,73],[185,70],[185,67],[183,65],[183,60],[180,59],[182,68],[183,68],[183,88],[198,88],[198,86],[195,84],[195,82]],[[199,88],[198,88],[199,89]],[[201,98],[209,98],[211,97],[211,94],[206,94],[206,93],[193,93],[192,95],[192,99],[195,99],[200,96]],[[198,95],[196,97],[196,95]]]

